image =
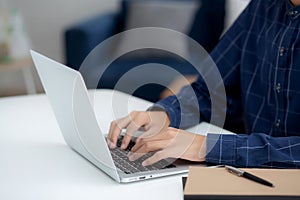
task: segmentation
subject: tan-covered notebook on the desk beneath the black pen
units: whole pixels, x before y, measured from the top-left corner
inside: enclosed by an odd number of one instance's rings
[[[300,199],[300,170],[245,169],[245,171],[269,180],[275,187],[238,177],[224,168],[191,167],[185,184],[184,199]]]

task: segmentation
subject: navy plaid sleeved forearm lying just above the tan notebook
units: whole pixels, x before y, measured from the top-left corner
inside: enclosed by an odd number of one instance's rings
[[[206,161],[238,167],[300,167],[300,137],[208,134]]]

